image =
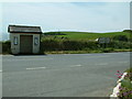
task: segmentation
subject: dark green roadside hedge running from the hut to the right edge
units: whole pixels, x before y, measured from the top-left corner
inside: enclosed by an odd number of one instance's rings
[[[43,40],[41,42],[42,51],[86,51],[86,50],[103,50],[110,52],[114,48],[130,48],[129,42],[113,41],[109,44],[99,44],[94,41],[73,41],[73,40]]]

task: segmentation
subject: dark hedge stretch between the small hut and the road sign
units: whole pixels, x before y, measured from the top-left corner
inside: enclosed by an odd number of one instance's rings
[[[89,41],[43,40],[41,42],[43,51],[82,51],[85,48],[96,50],[98,46],[98,43]]]

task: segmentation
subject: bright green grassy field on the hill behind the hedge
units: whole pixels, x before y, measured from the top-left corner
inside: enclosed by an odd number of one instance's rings
[[[131,32],[110,32],[110,33],[90,33],[90,32],[47,32],[45,37],[58,37],[69,40],[96,40],[99,37],[113,37],[116,35],[127,35],[130,38]]]

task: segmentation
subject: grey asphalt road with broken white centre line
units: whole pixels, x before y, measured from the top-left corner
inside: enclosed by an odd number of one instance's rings
[[[130,53],[2,56],[3,97],[108,97]]]

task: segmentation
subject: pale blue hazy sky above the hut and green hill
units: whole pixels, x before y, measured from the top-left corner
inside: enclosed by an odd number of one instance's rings
[[[130,3],[7,2],[2,3],[2,40],[9,38],[9,24],[40,25],[43,32],[122,31],[130,29]]]

